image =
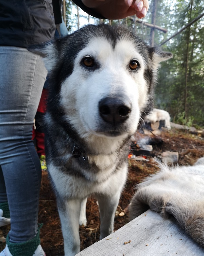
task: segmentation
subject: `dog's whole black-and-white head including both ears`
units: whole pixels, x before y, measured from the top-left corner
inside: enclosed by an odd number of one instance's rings
[[[58,86],[50,100],[58,97],[64,118],[82,137],[133,134],[149,107],[158,63],[171,57],[108,25],[86,26],[32,51],[43,55]]]

